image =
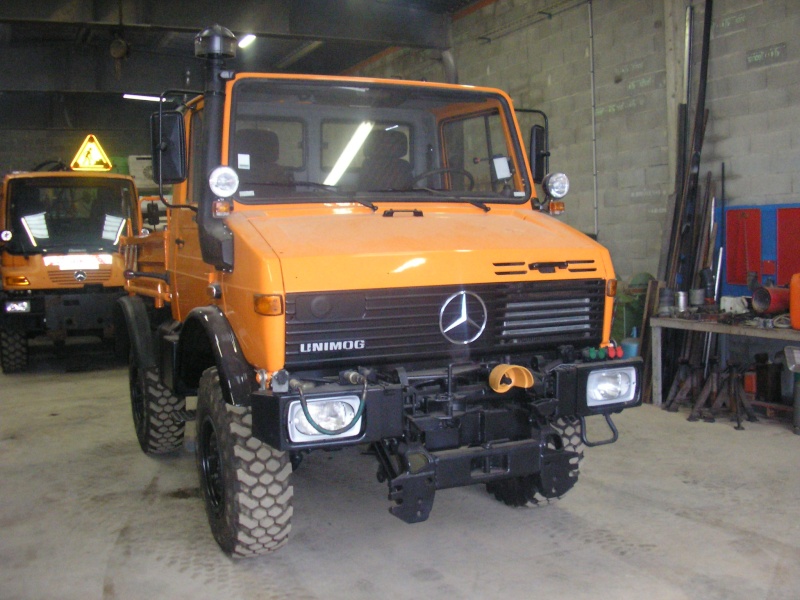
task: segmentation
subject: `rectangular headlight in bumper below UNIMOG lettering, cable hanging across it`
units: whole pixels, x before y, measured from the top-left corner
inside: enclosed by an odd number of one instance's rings
[[[342,427],[347,427],[353,422],[353,418],[358,410],[360,400],[357,396],[341,396],[336,398],[319,398],[306,401],[308,412],[317,425],[329,431],[335,431]],[[358,421],[338,435],[325,435],[320,433],[303,414],[303,407],[300,401],[292,402],[289,405],[289,439],[293,442],[318,441],[320,437],[325,439],[336,439],[341,437],[352,437],[360,433],[360,421]]]

